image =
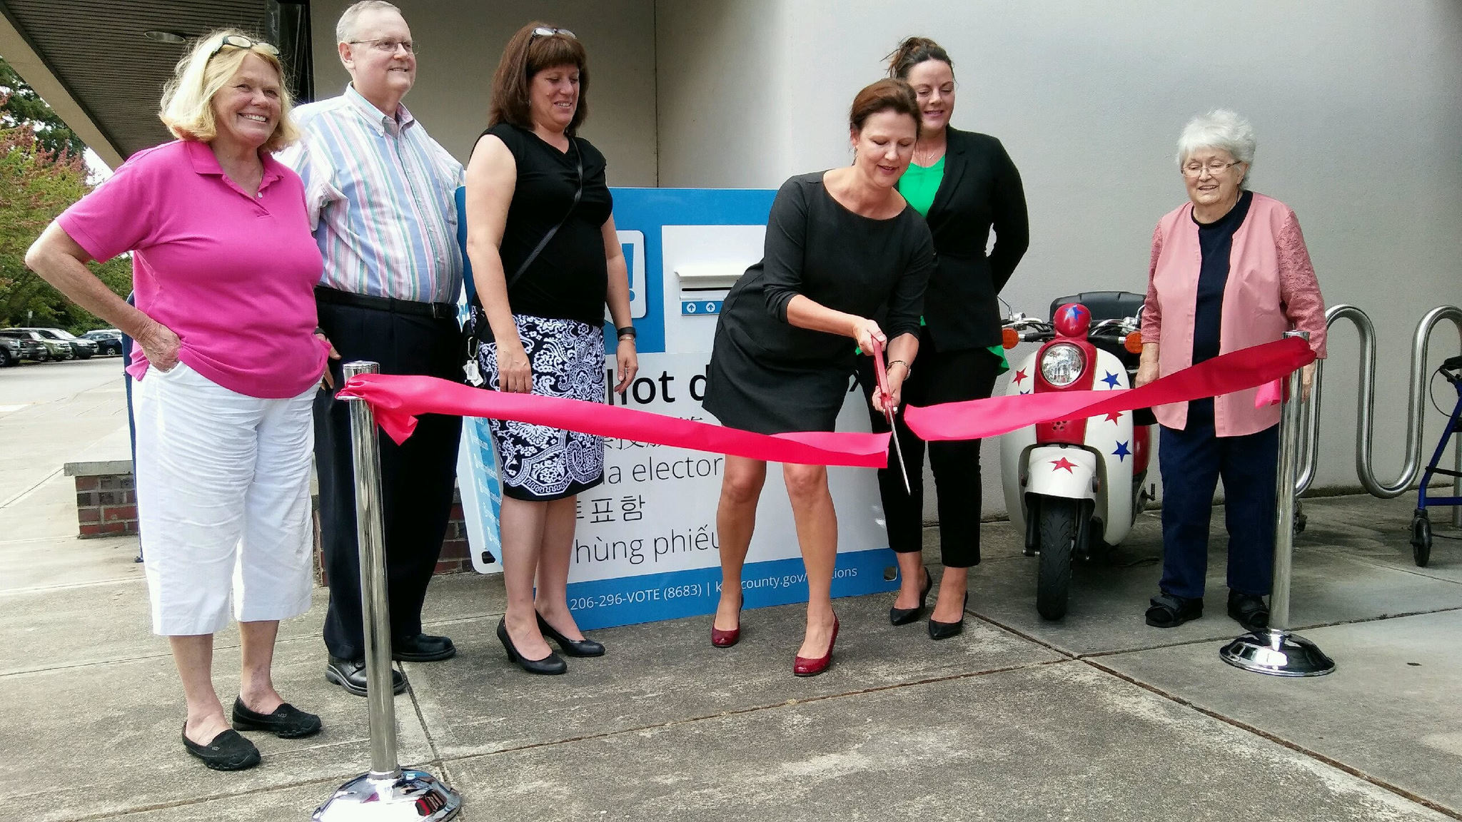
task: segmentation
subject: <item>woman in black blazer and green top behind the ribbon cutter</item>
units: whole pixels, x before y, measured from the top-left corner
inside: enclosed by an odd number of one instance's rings
[[[1031,240],[1020,173],[996,137],[949,126],[955,111],[955,70],[937,42],[905,39],[889,56],[889,76],[908,82],[918,97],[923,129],[914,162],[899,180],[899,193],[928,219],[939,254],[924,297],[920,367],[904,383],[904,401],[934,405],[982,399],[994,389],[996,376],[1006,370],[996,294],[1010,279]],[[985,254],[991,228],[996,244]],[[860,376],[871,392],[867,363]],[[882,415],[870,418],[873,430],[889,430]],[[902,579],[889,622],[905,625],[924,611],[933,581],[921,554],[924,442],[904,424],[902,405],[895,429],[914,493],[904,490],[896,470],[879,471],[879,490]],[[969,568],[980,563],[980,440],[928,443],[928,461],[939,496],[944,565],[928,635],[946,639],[963,627]]]

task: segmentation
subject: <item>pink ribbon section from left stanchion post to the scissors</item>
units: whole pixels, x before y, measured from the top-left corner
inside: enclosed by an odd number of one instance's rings
[[[437,377],[402,374],[357,374],[336,395],[364,399],[376,411],[376,423],[396,443],[417,427],[421,414],[491,417],[567,429],[602,437],[690,448],[768,462],[803,465],[849,465],[886,468],[889,434],[798,431],[753,434],[737,429],[696,423],[678,417],[636,411],[620,405],[537,396],[472,388]]]

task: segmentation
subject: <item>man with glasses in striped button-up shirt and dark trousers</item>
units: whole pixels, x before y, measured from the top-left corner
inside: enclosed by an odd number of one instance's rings
[[[284,155],[304,180],[325,256],[316,290],[320,329],[344,361],[374,360],[383,373],[461,382],[456,322],[462,252],[455,190],[462,164],[401,105],[417,75],[415,44],[390,3],[355,3],[336,25],[351,83],[341,97],[303,105],[304,139]],[[336,383],[339,361],[332,363]],[[320,540],[330,585],[325,676],[366,693],[355,493],[346,404],[320,392],[314,404]],[[380,437],[382,512],[390,598],[392,657],[446,660],[446,636],[421,633],[421,604],[442,553],[461,420],[423,417],[396,446]],[[393,673],[396,693],[405,679]]]

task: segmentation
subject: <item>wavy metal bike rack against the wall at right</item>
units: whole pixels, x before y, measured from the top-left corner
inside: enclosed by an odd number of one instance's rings
[[[1421,474],[1421,437],[1423,415],[1425,412],[1427,395],[1427,361],[1431,345],[1431,333],[1443,320],[1452,320],[1458,328],[1458,339],[1462,341],[1462,309],[1456,306],[1437,306],[1427,312],[1417,323],[1417,332],[1411,344],[1411,383],[1406,396],[1406,453],[1401,468],[1401,475],[1393,483],[1382,483],[1376,478],[1371,464],[1374,430],[1376,430],[1376,326],[1370,316],[1355,306],[1333,306],[1325,312],[1326,328],[1336,320],[1349,320],[1360,335],[1360,385],[1355,401],[1355,474],[1361,486],[1380,499],[1395,499],[1406,493]],[[1316,360],[1314,385],[1310,388],[1310,401],[1304,404],[1303,436],[1300,443],[1300,472],[1295,478],[1295,497],[1303,494],[1314,483],[1319,464],[1320,442],[1320,396],[1325,386],[1325,360]],[[1462,461],[1462,440],[1458,442],[1458,459]],[[1462,496],[1462,480],[1453,486],[1455,493]],[[1452,509],[1452,524],[1462,527],[1462,506]]]

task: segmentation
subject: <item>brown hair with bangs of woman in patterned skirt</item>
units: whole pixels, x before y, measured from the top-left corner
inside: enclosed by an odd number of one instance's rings
[[[528,104],[528,86],[534,75],[554,66],[575,66],[579,70],[579,105],[573,110],[573,120],[566,132],[573,135],[579,124],[589,116],[589,59],[583,53],[583,44],[564,29],[554,29],[554,34],[534,34],[535,29],[554,28],[548,23],[534,20],[518,29],[518,34],[507,41],[503,48],[503,59],[497,61],[493,72],[493,107],[487,114],[487,124],[512,123],[523,129],[532,129],[532,114]]]

